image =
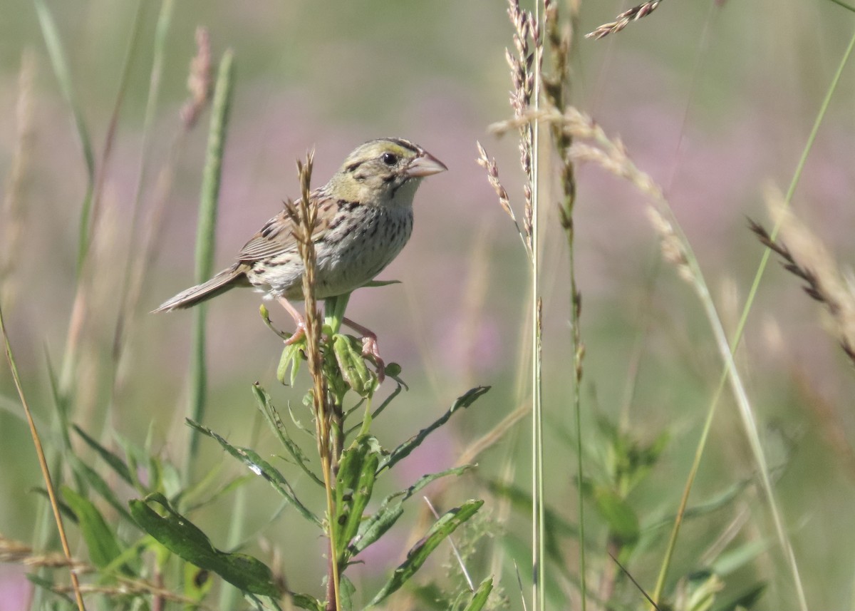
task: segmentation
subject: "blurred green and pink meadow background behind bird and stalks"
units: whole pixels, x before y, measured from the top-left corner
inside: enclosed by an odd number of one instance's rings
[[[449,167],[421,187],[410,245],[380,276],[403,283],[358,292],[349,314],[378,332],[386,359],[403,366],[410,385],[377,423],[387,447],[431,422],[471,386],[493,386],[453,428],[439,432],[402,465],[391,489],[451,466],[528,393],[521,383],[528,359],[528,266],[513,225],[475,163],[475,142],[481,141],[497,158],[500,177],[521,215],[516,139],[497,139],[487,131],[492,122],[510,116],[504,49],[512,31],[505,4],[176,3],[161,93],[147,133],[150,41],[160,3],[142,4],[141,42],[129,64],[113,149],[107,165],[97,169],[103,178],[102,214],[93,246],[91,309],[74,371],[74,422],[108,439],[109,430],[140,444],[148,439],[159,454],[176,462],[185,450],[192,317],[187,312],[147,312],[192,284],[207,114],[177,157],[163,228],[156,235],[156,258],[146,272],[115,367],[112,341],[133,232],[143,230],[156,205],[156,181],[180,130],[194,33],[203,26],[215,60],[226,49],[234,51],[238,75],[217,225],[218,268],[231,262],[283,199],[297,194],[294,161],[310,148],[316,151],[315,185],[326,181],[355,145],[385,135],[412,139]],[[136,3],[48,6],[67,54],[74,98],[100,161]],[[628,3],[611,0],[582,2],[578,31],[591,31],[627,8]],[[567,6],[562,9],[566,15]],[[640,168],[663,186],[729,329],[734,329],[762,256],[746,229],[746,216],[769,224],[764,187],[771,182],[786,189],[791,180],[853,25],[855,15],[828,0],[668,2],[614,36],[575,40],[573,103],[607,133],[619,135]],[[0,298],[34,409],[50,420],[47,363],[62,362],[68,341],[85,164],[36,9],[26,0],[2,0],[4,193],[19,140],[16,99],[24,56],[32,59],[27,108],[32,145],[21,205],[14,215],[4,210],[0,216],[0,254],[11,262]],[[794,199],[799,217],[841,262],[853,254],[853,87],[852,68],[847,67]],[[141,220],[134,224],[138,184]],[[658,262],[657,240],[642,204],[628,184],[599,169],[580,170],[576,252],[587,347],[581,392],[588,431],[597,418],[607,417],[622,418],[646,442],[669,432],[662,460],[632,497],[640,514],[664,515],[679,500],[721,365],[691,289]],[[543,222],[548,501],[572,519],[576,487],[569,443],[574,433],[567,252],[550,205]],[[209,307],[205,424],[235,443],[256,443],[275,452],[268,430],[257,420],[250,385],[260,381],[280,406],[288,401],[299,405],[302,391],[275,382],[280,341],[262,324],[258,304],[257,294],[233,291]],[[289,323],[278,311],[274,318],[283,326]],[[817,609],[849,606],[855,560],[852,371],[834,339],[824,333],[817,306],[775,265],[761,285],[739,357],[766,427],[769,453],[782,466],[777,486],[808,600]],[[121,378],[115,394],[109,392],[111,371]],[[0,394],[0,533],[28,541],[40,503],[31,490],[40,476],[26,427],[14,415],[19,408],[5,367],[0,368]],[[511,456],[524,486],[527,421],[518,427],[522,440],[510,434],[483,454],[480,464],[484,473],[496,473]],[[596,448],[591,454],[597,454]],[[206,465],[221,463],[223,472],[239,471],[213,442],[203,442],[202,456]],[[693,498],[715,495],[750,478],[754,470],[737,412],[724,400]],[[271,523],[277,499],[266,484],[251,485],[250,532],[257,528],[258,537],[281,546],[286,567],[289,550],[310,549],[312,554],[295,555],[308,560],[287,570],[292,583],[315,587],[323,561],[314,552],[321,543],[302,532],[300,519],[287,512]],[[466,491],[458,490],[448,502],[463,498]],[[205,507],[195,516],[197,523],[209,532],[225,529],[229,507],[227,501]],[[696,561],[698,550],[740,512],[752,516],[741,536],[769,547],[745,568],[772,584],[766,608],[794,607],[758,494],[746,492],[721,513],[689,525],[678,559]],[[507,526],[497,518],[495,536],[504,537],[506,530],[518,530],[516,535],[524,539],[525,517],[517,515]],[[363,569],[365,578],[399,561],[401,548],[389,545],[386,553],[371,559],[373,566]],[[657,549],[648,553],[630,569],[652,587]],[[514,560],[520,566],[528,562],[525,556]],[[27,588],[22,574],[21,567],[0,566],[0,609],[19,608]]]

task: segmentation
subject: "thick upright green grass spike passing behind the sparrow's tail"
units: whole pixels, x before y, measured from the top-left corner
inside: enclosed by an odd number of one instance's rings
[[[234,54],[223,53],[214,88],[208,149],[202,175],[202,196],[199,202],[199,217],[196,230],[196,282],[201,283],[211,276],[214,265],[214,245],[217,202],[220,195],[222,157],[226,145],[226,130],[231,108],[234,82]],[[200,304],[193,312],[193,336],[190,365],[190,394],[187,414],[194,422],[201,422],[207,398],[207,367],[205,365],[205,315],[207,306]],[[187,454],[185,455],[184,477],[189,481],[192,462],[198,446],[198,431],[188,427]]]

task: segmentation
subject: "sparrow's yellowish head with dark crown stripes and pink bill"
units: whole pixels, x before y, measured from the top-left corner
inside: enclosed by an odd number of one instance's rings
[[[446,169],[419,145],[381,138],[357,146],[327,188],[334,198],[364,205],[409,206],[422,178]]]

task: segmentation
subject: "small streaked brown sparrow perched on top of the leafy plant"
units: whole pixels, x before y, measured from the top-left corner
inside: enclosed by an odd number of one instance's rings
[[[330,181],[310,194],[317,206],[315,298],[351,293],[392,263],[412,233],[416,188],[425,176],[445,169],[421,146],[400,138],[369,140],[351,152]],[[305,322],[290,300],[303,299],[304,265],[293,229],[292,218],[281,211],[252,236],[231,267],[155,311],[192,307],[231,288],[252,286],[292,315],[298,329],[288,341],[298,340]],[[382,375],[376,335],[346,318],[345,323],[363,334],[363,352],[374,356]]]

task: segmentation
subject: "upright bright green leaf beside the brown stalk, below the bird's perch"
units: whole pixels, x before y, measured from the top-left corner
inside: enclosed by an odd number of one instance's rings
[[[356,536],[365,507],[371,499],[379,462],[380,445],[369,435],[358,436],[341,454],[335,480],[333,533],[335,556],[342,569],[350,556],[348,545]]]

